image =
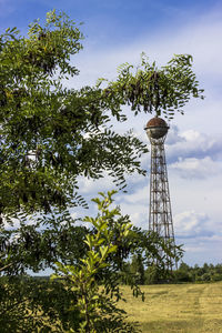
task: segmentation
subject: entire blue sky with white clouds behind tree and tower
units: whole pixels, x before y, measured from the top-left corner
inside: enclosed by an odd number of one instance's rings
[[[173,224],[176,244],[185,250],[184,262],[222,263],[222,2],[0,0],[1,32],[17,27],[26,33],[30,22],[52,9],[83,22],[83,50],[72,59],[80,75],[67,82],[70,88],[94,84],[101,77],[114,80],[117,68],[124,62],[137,65],[142,52],[158,65],[173,54],[193,56],[205,99],[190,101],[185,114],[175,115],[165,141]],[[133,129],[149,145],[143,129],[151,117],[134,118],[127,108],[125,113],[128,122],[117,130]],[[115,199],[133,224],[148,229],[150,153],[142,157],[142,167],[148,175],[127,176],[128,193],[119,192]],[[88,200],[114,188],[108,176],[95,182],[81,179],[80,185]],[[90,210],[95,213],[93,205]]]

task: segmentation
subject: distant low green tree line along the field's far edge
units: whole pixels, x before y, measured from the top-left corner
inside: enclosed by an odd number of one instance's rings
[[[123,283],[129,284],[131,279],[135,279],[138,284],[155,283],[183,283],[183,282],[216,282],[222,281],[222,264],[213,265],[204,263],[202,266],[195,264],[189,266],[182,262],[178,270],[172,274],[165,274],[157,264],[145,268],[141,255],[133,255],[131,262],[127,263],[123,269]]]

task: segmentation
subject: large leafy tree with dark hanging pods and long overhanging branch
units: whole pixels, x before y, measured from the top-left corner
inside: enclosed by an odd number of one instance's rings
[[[115,81],[68,89],[64,80],[79,73],[70,60],[82,49],[82,40],[79,27],[56,11],[47,14],[44,24],[30,24],[27,37],[16,28],[0,37],[0,272],[4,275],[39,271],[58,260],[78,266],[89,255],[87,244],[78,248],[74,240],[97,231],[77,228],[69,214],[70,208],[87,205],[78,192],[79,176],[99,179],[107,171],[123,190],[125,173],[145,173],[140,157],[147,147],[131,132],[119,134],[112,128],[113,119],[127,121],[122,105],[130,104],[135,115],[143,110],[171,118],[191,97],[202,97],[191,56],[176,56],[161,69],[143,56],[135,72],[124,64]],[[119,240],[117,228],[112,229]],[[137,236],[131,241],[131,249],[141,245]],[[120,265],[122,255],[130,253],[125,245],[118,244],[119,251],[108,260]]]

